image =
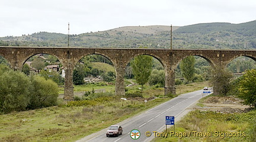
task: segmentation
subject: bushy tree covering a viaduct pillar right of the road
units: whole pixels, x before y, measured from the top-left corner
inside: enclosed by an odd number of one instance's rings
[[[211,70],[210,83],[213,85],[215,95],[226,96],[231,89],[232,74],[222,67],[215,67]]]

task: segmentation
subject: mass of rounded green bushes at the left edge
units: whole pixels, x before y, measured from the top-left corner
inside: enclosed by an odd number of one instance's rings
[[[52,80],[28,77],[0,64],[0,114],[56,105],[57,92]]]

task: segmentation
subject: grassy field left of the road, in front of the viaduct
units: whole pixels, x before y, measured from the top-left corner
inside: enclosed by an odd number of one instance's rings
[[[190,85],[202,89],[205,83]],[[114,88],[114,86],[112,86]],[[138,86],[129,88],[129,91],[137,89]],[[181,86],[177,92],[187,92],[187,86]],[[112,95],[112,96],[111,96]],[[36,109],[24,112],[12,112],[0,115],[0,141],[75,141],[85,135],[92,134],[111,124],[123,121],[146,109],[162,104],[171,98],[160,97],[148,101],[146,107],[144,99],[150,96],[164,95],[163,88],[146,86],[143,91],[144,98],[120,101],[123,96],[95,97],[95,99],[65,102],[60,101],[59,106]],[[110,120],[111,118],[111,120]]]

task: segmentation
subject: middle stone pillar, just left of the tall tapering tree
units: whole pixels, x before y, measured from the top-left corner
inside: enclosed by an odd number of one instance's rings
[[[125,88],[124,88],[124,73],[125,67],[118,66],[116,67],[116,95],[125,95]]]

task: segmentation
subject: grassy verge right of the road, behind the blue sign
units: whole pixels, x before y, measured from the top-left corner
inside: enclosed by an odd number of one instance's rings
[[[242,114],[195,110],[175,123],[177,135],[170,135],[174,131],[171,127],[167,130],[167,138],[156,137],[153,141],[256,141],[255,116],[256,110]],[[207,133],[208,136],[203,135]]]

